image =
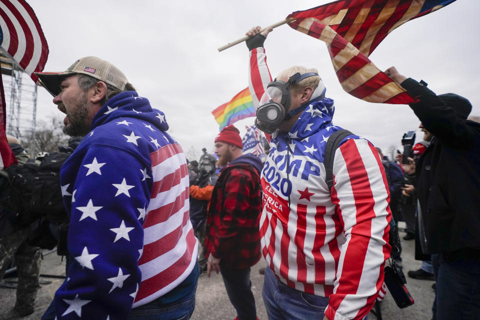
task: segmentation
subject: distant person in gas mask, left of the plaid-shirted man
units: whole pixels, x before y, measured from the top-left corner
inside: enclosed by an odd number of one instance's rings
[[[201,252],[198,252],[200,274],[206,271],[204,242],[208,201],[210,201],[213,187],[218,179],[218,175],[215,173],[215,157],[212,154],[206,153],[206,148],[203,148],[202,151],[203,154],[198,161],[198,173],[195,178],[190,181],[190,221],[193,225],[195,236],[201,244]]]

